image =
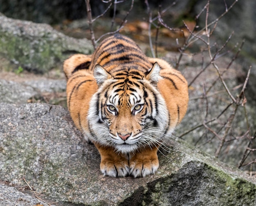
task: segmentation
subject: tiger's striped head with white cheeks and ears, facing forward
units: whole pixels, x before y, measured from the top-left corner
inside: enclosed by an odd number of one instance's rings
[[[156,87],[161,79],[159,65],[155,63],[146,73],[127,67],[110,74],[99,64],[95,66],[99,90],[88,112],[92,140],[122,153],[159,145],[170,121]]]

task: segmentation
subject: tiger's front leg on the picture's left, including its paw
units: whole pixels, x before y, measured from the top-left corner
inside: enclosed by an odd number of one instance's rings
[[[121,153],[116,153],[109,146],[94,143],[101,155],[101,172],[111,177],[126,177],[129,175],[128,159]]]

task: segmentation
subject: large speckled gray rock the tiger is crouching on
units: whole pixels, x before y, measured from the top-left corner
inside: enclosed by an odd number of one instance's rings
[[[24,186],[24,177],[37,192],[85,205],[256,204],[255,179],[181,140],[170,140],[168,145],[161,150],[164,155],[159,153],[155,175],[104,177],[97,149],[83,141],[66,109],[49,104],[0,104],[3,181]]]

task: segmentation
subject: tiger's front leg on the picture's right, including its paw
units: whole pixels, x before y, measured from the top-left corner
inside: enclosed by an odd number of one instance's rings
[[[159,166],[157,157],[158,147],[144,148],[137,152],[129,160],[130,175],[133,177],[145,177],[154,174]]]

